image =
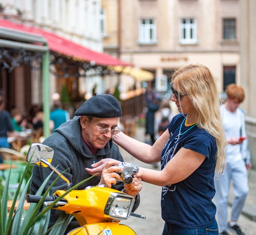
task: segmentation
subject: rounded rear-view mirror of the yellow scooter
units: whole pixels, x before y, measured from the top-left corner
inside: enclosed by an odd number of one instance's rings
[[[54,151],[51,147],[40,143],[33,143],[29,148],[26,159],[30,163],[41,165],[42,159],[50,163],[53,154]]]

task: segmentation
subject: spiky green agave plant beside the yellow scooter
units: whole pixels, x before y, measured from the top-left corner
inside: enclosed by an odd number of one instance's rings
[[[73,219],[73,216],[66,214],[63,212],[61,216],[58,218],[56,224],[48,229],[49,220],[50,220],[50,209],[63,197],[65,197],[70,191],[76,189],[79,185],[83,184],[84,182],[88,181],[92,177],[81,181],[80,183],[76,184],[75,186],[71,187],[65,194],[63,194],[61,197],[57,198],[55,201],[51,203],[51,205],[45,207],[42,206],[44,203],[44,200],[46,196],[49,195],[50,189],[54,185],[54,183],[59,178],[56,177],[56,179],[52,182],[50,187],[46,190],[45,194],[42,196],[41,200],[36,203],[31,203],[28,210],[24,210],[24,202],[26,200],[26,194],[27,190],[31,181],[31,177],[28,180],[25,188],[22,188],[22,182],[24,177],[27,174],[27,170],[29,170],[30,164],[28,163],[25,172],[20,179],[20,183],[18,185],[18,188],[16,190],[13,203],[11,206],[11,209],[8,211],[7,208],[7,201],[8,201],[8,188],[9,188],[9,180],[10,180],[10,174],[11,174],[11,167],[9,169],[9,174],[5,183],[4,191],[2,198],[0,200],[0,234],[3,235],[44,235],[44,234],[64,234],[65,230],[67,229],[67,226],[69,222]],[[40,196],[42,194],[42,191],[44,190],[47,182],[49,181],[51,175],[54,172],[52,172],[49,177],[41,184],[40,188],[38,189],[36,195]],[[21,194],[20,194],[21,193]],[[21,195],[21,196],[19,196]],[[0,195],[1,196],[1,195]],[[16,201],[19,200],[18,206],[16,211],[14,210]]]

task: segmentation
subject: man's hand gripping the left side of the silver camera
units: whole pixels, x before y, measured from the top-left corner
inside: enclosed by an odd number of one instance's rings
[[[110,158],[108,162],[105,162],[105,167],[102,169],[101,178],[98,185],[105,184],[106,187],[111,188],[112,184],[116,184],[116,182],[120,180],[120,176],[116,172],[121,172],[122,168],[115,166],[119,163],[119,161]]]

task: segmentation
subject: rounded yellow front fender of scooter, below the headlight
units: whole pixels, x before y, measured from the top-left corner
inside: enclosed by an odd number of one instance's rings
[[[136,235],[134,230],[127,225],[116,222],[86,224],[71,230],[67,235]]]

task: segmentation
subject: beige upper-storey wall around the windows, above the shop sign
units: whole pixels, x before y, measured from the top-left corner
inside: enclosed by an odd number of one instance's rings
[[[238,1],[223,0],[121,0],[122,50],[236,50],[238,44],[222,44],[222,18],[239,20]],[[141,46],[138,41],[138,23],[143,17],[153,17],[157,24],[157,44]],[[179,21],[183,17],[197,20],[198,44],[179,44]],[[124,20],[126,19],[126,20]],[[239,29],[239,24],[238,24]],[[239,36],[239,35],[238,35]],[[238,37],[239,38],[239,37]]]

